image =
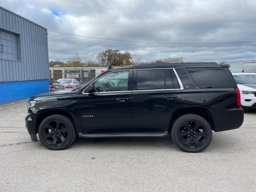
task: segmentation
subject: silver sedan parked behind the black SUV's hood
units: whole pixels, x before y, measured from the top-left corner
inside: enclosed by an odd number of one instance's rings
[[[75,89],[82,87],[82,83],[80,83],[76,79],[64,78],[56,80],[52,86],[50,86],[50,90],[64,90],[64,89]]]

